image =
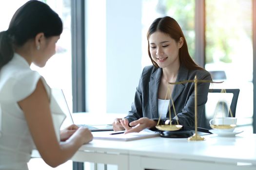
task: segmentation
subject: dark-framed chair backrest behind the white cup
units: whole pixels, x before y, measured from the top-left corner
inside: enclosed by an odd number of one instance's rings
[[[236,117],[236,103],[240,90],[225,90],[225,93],[221,93],[221,89],[209,89],[204,113],[198,118],[198,127],[211,129],[209,121],[214,117]]]

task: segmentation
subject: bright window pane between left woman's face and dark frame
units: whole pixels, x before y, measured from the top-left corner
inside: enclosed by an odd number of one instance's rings
[[[37,70],[52,88],[61,88],[65,94],[69,109],[72,111],[72,55],[71,55],[71,1],[70,0],[41,0],[47,3],[63,22],[63,32],[56,44],[56,54],[52,56],[45,67]]]

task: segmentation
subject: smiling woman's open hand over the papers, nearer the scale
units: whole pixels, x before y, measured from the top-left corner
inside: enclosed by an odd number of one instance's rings
[[[127,119],[120,119],[120,124],[125,128],[126,132],[124,134],[132,132],[140,132],[146,128],[151,128],[157,125],[157,122],[148,118],[140,118],[138,120],[132,121],[129,126]]]

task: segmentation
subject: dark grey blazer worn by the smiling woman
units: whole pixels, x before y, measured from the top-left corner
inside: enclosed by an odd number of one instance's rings
[[[125,117],[129,122],[142,117],[158,120],[158,87],[161,80],[162,68],[147,66],[143,69],[139,84],[135,93],[135,99],[131,106],[131,111]],[[177,82],[193,80],[197,75],[198,80],[212,80],[211,75],[206,70],[189,70],[180,65],[177,75]],[[207,102],[207,95],[210,83],[197,83],[197,114],[198,124]],[[178,116],[179,124],[195,126],[195,85],[186,83],[175,85],[172,98]],[[175,117],[174,108],[171,104],[171,117]],[[166,118],[161,118],[160,123],[169,118],[169,109]],[[173,121],[174,123],[176,121]]]

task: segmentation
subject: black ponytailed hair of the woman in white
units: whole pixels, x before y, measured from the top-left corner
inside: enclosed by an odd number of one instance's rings
[[[13,57],[14,47],[24,45],[37,34],[57,36],[62,33],[62,21],[47,4],[30,0],[14,14],[7,31],[0,32],[0,69]]]

